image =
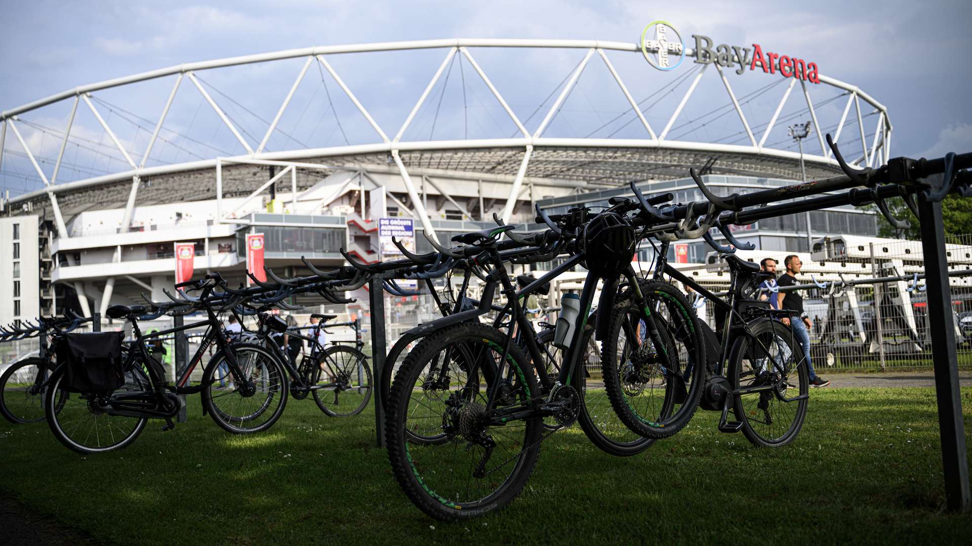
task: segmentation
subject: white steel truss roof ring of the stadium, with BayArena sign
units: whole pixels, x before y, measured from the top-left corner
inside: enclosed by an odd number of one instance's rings
[[[246,195],[265,181],[246,169],[278,164],[299,170],[300,188],[339,170],[400,174],[412,201],[408,173],[424,170],[506,182],[510,199],[525,180],[582,190],[689,166],[799,179],[787,125],[805,121],[808,178],[840,172],[828,132],[855,164],[884,161],[885,106],[784,49],[687,42],[656,21],[632,42],[444,39],[187,62],[0,113],[6,206],[52,209],[63,225],[62,212],[136,191],[140,205]]]

